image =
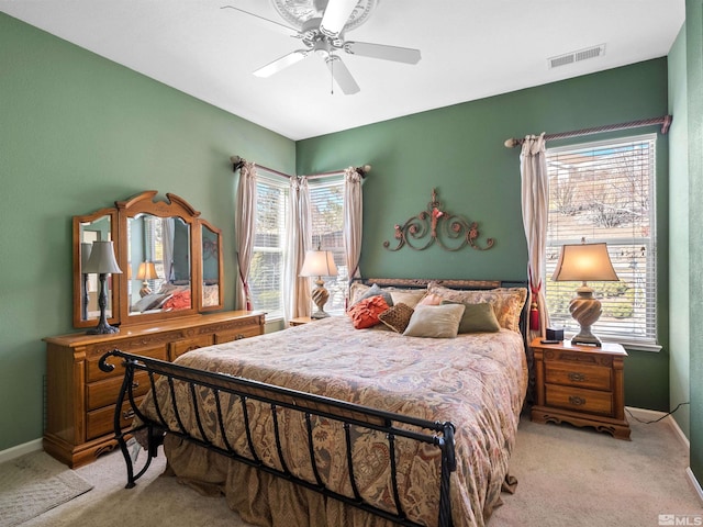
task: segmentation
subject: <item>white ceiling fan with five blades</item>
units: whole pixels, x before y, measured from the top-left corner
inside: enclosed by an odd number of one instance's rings
[[[362,24],[378,2],[379,0],[271,0],[281,18],[294,27],[233,5],[224,5],[222,9],[239,11],[259,25],[298,38],[305,46],[267,64],[254,71],[254,75],[270,77],[314,54],[324,59],[332,78],[349,96],[357,93],[359,86],[342,61],[342,52],[405,64],[417,64],[421,58],[420,49],[345,40],[345,32]]]

